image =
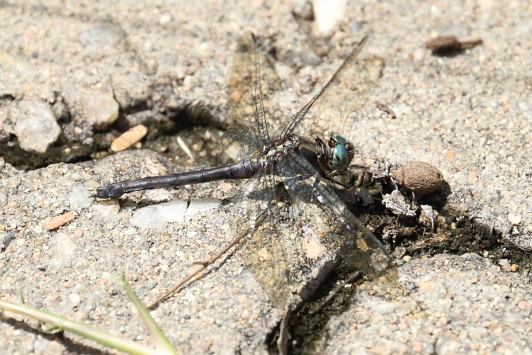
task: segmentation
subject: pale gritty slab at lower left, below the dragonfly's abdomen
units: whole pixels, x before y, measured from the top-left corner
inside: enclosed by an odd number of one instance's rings
[[[117,157],[128,162],[123,168],[137,168],[139,174],[166,170],[167,160],[161,161],[149,151],[114,155],[95,166],[60,164],[29,173],[4,167],[3,182],[6,190],[11,190],[4,206],[5,228],[15,230],[16,236],[2,253],[0,288],[6,300],[15,301],[16,286],[20,286],[29,305],[148,342],[116,274],[123,272],[133,290],[143,291],[140,298],[147,305],[196,269],[196,261],[228,244],[231,237],[223,233],[224,217],[219,213],[196,214],[185,224],[146,229],[130,223],[137,207],[133,200],[121,209],[116,200],[89,207],[88,190],[85,194],[72,191],[77,191],[77,184],[96,186],[94,179],[109,173],[109,163]],[[223,190],[221,184],[203,191],[191,187],[189,193],[196,198],[210,196],[213,190]],[[190,198],[187,195],[180,197]],[[67,211],[75,218],[59,231],[43,226],[50,213],[55,217]],[[189,354],[233,354],[238,349],[250,354],[264,352],[266,333],[279,321],[277,311],[244,270],[238,255],[151,314],[172,344]],[[6,354],[73,351],[56,342],[43,343],[45,339],[35,334],[21,334],[6,322],[1,327],[8,335],[0,346]]]

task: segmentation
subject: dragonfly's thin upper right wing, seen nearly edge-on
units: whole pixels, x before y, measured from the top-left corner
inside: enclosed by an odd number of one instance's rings
[[[277,131],[275,131],[274,133],[275,141],[279,138],[286,136],[288,133],[292,133],[301,121],[301,119],[303,119],[309,109],[311,109],[314,102],[316,102],[316,100],[321,97],[321,95],[326,92],[329,87],[338,85],[338,83],[341,81],[340,77],[343,76],[343,73],[353,67],[358,53],[360,53],[366,42],[367,36],[362,38],[358,45],[356,45],[355,49],[353,49],[350,55],[348,55],[348,58],[345,58],[343,64],[340,65],[338,70],[336,70],[336,72],[334,73],[333,77],[331,77],[331,80],[329,80],[302,109],[297,111],[296,114],[287,119],[287,121],[284,121],[284,123],[279,126],[279,129],[277,129]]]

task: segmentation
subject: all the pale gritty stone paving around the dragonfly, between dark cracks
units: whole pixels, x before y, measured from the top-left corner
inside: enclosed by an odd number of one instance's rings
[[[266,81],[278,90],[269,95],[267,110],[279,102],[270,116],[278,124],[306,103],[353,43],[369,33],[362,58],[382,58],[384,67],[362,116],[352,131],[346,130],[357,146],[355,163],[435,165],[452,191],[448,208],[478,212],[480,223],[494,225],[507,242],[530,252],[531,2],[364,0],[347,10],[345,23],[324,40],[313,37],[304,11],[289,2],[2,1],[2,144],[9,133],[22,148],[43,151],[56,142],[75,151],[93,146],[94,132],[106,131],[116,119],[190,107],[226,121],[231,55],[247,29],[259,35],[264,50],[275,53],[275,72]],[[448,34],[483,43],[440,57],[424,47],[426,40]],[[375,102],[386,104],[396,117]],[[35,129],[48,133],[60,126],[62,133],[35,135],[27,129],[28,112],[44,117]],[[51,115],[57,126],[50,126]],[[323,119],[304,124],[304,131],[313,134],[334,128]],[[135,193],[119,206],[93,205],[73,193],[184,169],[157,153],[126,151],[96,163],[50,165],[28,173],[0,162],[4,300],[16,300],[20,286],[31,305],[149,343],[113,274],[123,270],[135,290],[143,288],[141,297],[148,302],[228,242],[214,212],[163,230],[140,229],[130,223],[133,211],[160,195]],[[173,194],[180,200],[220,198],[232,189],[216,182]],[[74,214],[72,222],[57,231],[45,228],[47,218],[65,212]],[[329,322],[319,345],[323,351],[530,351],[526,275],[500,271],[471,255],[413,261],[401,266],[399,275],[410,293],[393,300],[372,295],[373,285],[362,285],[345,317]],[[238,253],[153,315],[177,349],[195,354],[265,352],[265,336],[280,319]],[[57,342],[21,323],[6,321],[0,327],[5,354],[93,352],[79,348],[88,342],[76,337]]]

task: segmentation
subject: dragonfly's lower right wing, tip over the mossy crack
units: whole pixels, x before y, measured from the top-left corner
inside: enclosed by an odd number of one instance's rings
[[[322,234],[322,244],[362,273],[383,275],[392,258],[307,160],[289,153],[277,164],[277,171],[294,203],[302,209],[307,208],[306,204],[313,204],[326,215],[325,222],[331,227]]]

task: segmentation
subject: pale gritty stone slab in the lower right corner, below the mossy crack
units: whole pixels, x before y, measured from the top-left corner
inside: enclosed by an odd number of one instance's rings
[[[477,254],[399,268],[399,288],[365,283],[326,326],[319,354],[532,354],[532,288]]]

